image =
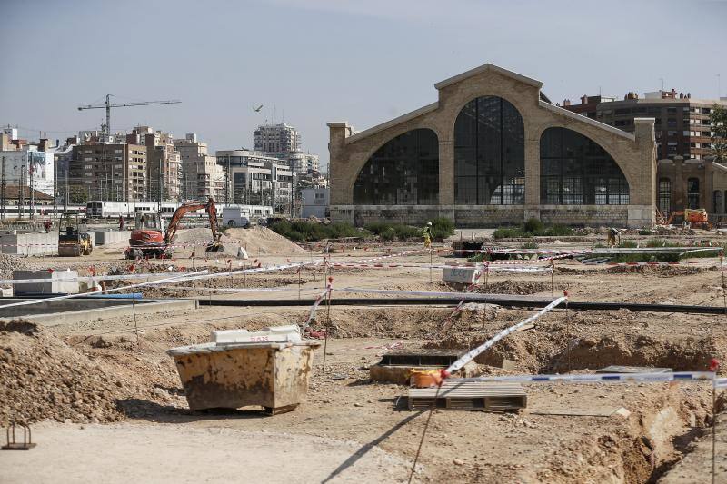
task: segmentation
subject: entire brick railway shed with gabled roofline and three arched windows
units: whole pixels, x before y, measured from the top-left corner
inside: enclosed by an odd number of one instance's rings
[[[625,133],[553,105],[541,86],[484,64],[434,84],[433,104],[363,132],[328,123],[331,218],[650,226],[653,119]]]

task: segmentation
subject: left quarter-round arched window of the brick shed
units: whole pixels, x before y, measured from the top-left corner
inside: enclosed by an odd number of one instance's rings
[[[354,183],[354,203],[439,203],[439,141],[430,129],[400,134],[373,153]]]

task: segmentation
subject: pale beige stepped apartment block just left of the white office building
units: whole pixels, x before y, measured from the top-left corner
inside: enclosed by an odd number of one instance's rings
[[[196,133],[187,133],[183,139],[174,140],[182,164],[180,190],[184,200],[224,198],[224,173],[216,158],[207,153],[207,143],[197,139]]]

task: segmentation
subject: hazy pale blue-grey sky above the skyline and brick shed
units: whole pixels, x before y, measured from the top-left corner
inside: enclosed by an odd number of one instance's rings
[[[284,121],[327,164],[326,123],[362,131],[486,63],[553,103],[662,83],[727,96],[725,19],[727,0],[0,0],[0,125],[63,140],[99,129],[103,109],[76,107],[105,94],[179,99],[116,108],[112,131],[197,133],[214,153]]]

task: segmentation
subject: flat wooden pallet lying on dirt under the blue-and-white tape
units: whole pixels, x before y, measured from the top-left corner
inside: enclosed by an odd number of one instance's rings
[[[434,399],[436,398],[436,402]],[[519,410],[527,395],[518,383],[445,380],[436,388],[409,389],[409,410]]]

